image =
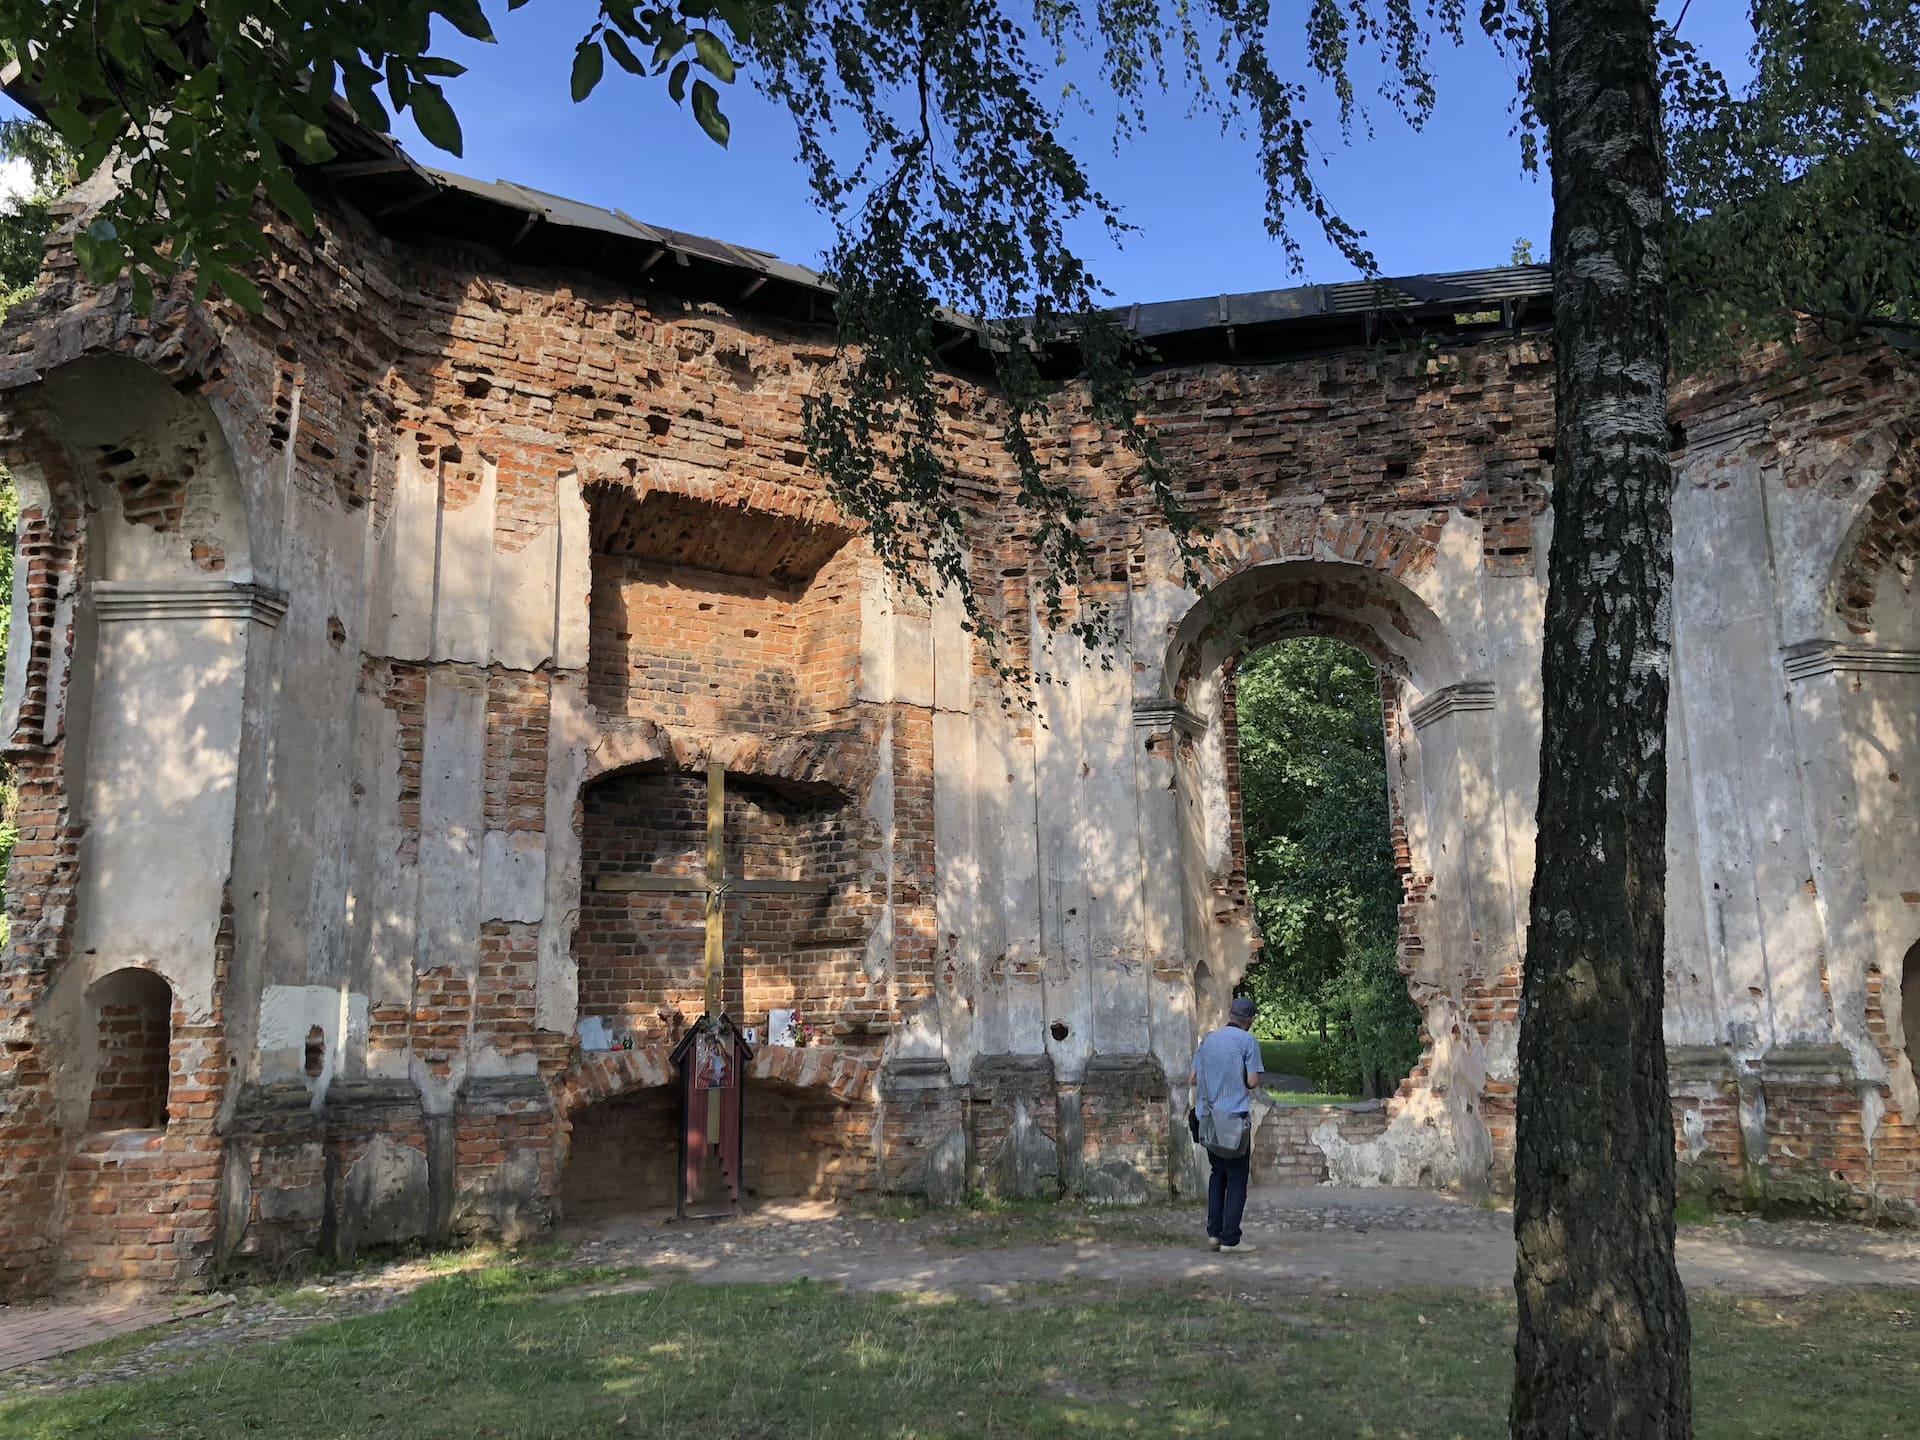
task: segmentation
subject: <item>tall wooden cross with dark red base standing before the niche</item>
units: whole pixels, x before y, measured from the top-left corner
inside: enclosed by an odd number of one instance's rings
[[[651,891],[707,897],[705,1012],[674,1046],[682,1075],[680,1213],[739,1208],[743,1150],[741,1085],[751,1050],[726,1014],[726,900],[730,895],[828,895],[824,879],[728,879],[726,766],[707,764],[707,866],[693,876],[599,876],[597,891]]]

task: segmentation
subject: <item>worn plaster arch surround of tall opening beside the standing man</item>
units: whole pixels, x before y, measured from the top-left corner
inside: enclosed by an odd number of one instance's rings
[[[1492,668],[1465,659],[1484,649],[1415,589],[1415,582],[1440,589],[1423,570],[1430,553],[1390,526],[1350,528],[1357,540],[1348,536],[1344,549],[1377,563],[1325,553],[1256,559],[1169,626],[1162,695],[1185,716],[1173,766],[1185,933],[1217,977],[1217,995],[1244,983],[1258,925],[1238,831],[1238,664],[1298,637],[1354,647],[1379,678],[1386,835],[1402,883],[1392,964],[1421,1016],[1421,1058],[1392,1098],[1298,1127],[1294,1139],[1308,1150],[1302,1173],[1480,1187],[1511,1152],[1530,849],[1517,852],[1509,835],[1530,820],[1538,741],[1498,728]],[[1206,1029],[1219,1014],[1196,1020]]]

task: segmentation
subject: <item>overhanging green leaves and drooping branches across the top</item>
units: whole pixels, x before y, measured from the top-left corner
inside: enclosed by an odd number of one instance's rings
[[[119,194],[77,236],[96,280],[131,275],[144,305],[190,271],[200,294],[257,305],[255,194],[315,223],[300,177],[332,156],[328,106],[382,132],[405,111],[459,156],[463,67],[442,54],[445,38],[490,40],[490,15],[528,2],[0,0],[0,52],[23,65],[83,173],[121,157]],[[1749,12],[1761,63],[1740,94],[1684,25],[1659,31],[1688,355],[1736,324],[1780,332],[1789,309],[1841,324],[1914,313],[1920,261],[1885,221],[1912,219],[1920,194],[1916,0],[1751,0]],[[1188,561],[1206,538],[1140,420],[1142,351],[1102,309],[1100,278],[1071,242],[1085,219],[1127,223],[1062,138],[1066,108],[1110,115],[1125,138],[1146,123],[1150,94],[1185,94],[1248,136],[1267,228],[1296,271],[1294,227],[1311,225],[1373,273],[1363,217],[1334,209],[1323,169],[1338,140],[1373,125],[1373,108],[1421,125],[1436,100],[1432,46],[1475,29],[1513,61],[1519,159],[1532,167],[1546,0],[1482,0],[1476,15],[1467,0],[603,0],[568,84],[574,100],[614,75],[662,84],[718,144],[732,132],[726,88],[743,79],[791,115],[833,223],[824,269],[845,342],[839,384],[806,415],[814,467],[906,584],[956,588],[993,641],[1000,622],[975,593],[970,516],[948,484],[933,348],[943,315],[975,317],[1044,614],[1098,637],[1098,607],[1069,601],[1091,559],[1083,497],[1044,459],[1050,353],[1071,348],[1094,417]],[[1068,56],[1089,58],[1096,84],[1075,84]],[[1336,136],[1313,127],[1323,94]]]

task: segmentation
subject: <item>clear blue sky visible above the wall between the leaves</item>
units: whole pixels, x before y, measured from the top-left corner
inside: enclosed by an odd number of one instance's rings
[[[1680,4],[1663,0],[1661,10],[1670,17]],[[468,65],[447,90],[461,115],[465,156],[434,150],[405,117],[401,142],[430,165],[518,180],[812,263],[828,227],[793,159],[791,121],[760,102],[745,75],[722,94],[733,121],[728,150],[707,140],[660,83],[614,65],[586,104],[570,102],[574,44],[595,10],[593,0],[538,0],[511,13],[488,4],[499,44],[453,35],[444,46]],[[1275,10],[1296,13],[1284,2]],[[1743,73],[1751,44],[1745,10],[1743,0],[1692,0],[1682,33],[1730,75]],[[1549,196],[1544,180],[1521,171],[1509,136],[1511,73],[1478,35],[1459,50],[1438,48],[1434,63],[1440,100],[1421,134],[1377,102],[1373,138],[1357,132],[1352,148],[1342,148],[1331,108],[1315,111],[1329,194],[1367,230],[1388,275],[1500,265],[1519,236],[1544,255]],[[1183,111],[1181,98],[1158,104],[1146,134],[1117,156],[1110,117],[1068,125],[1094,182],[1137,227],[1117,250],[1092,227],[1079,236],[1117,301],[1352,278],[1352,267],[1309,223],[1296,227],[1308,271],[1290,275],[1263,228],[1252,144]]]

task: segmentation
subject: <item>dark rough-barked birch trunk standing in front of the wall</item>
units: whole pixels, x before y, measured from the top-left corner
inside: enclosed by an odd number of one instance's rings
[[[1515,1436],[1692,1434],[1665,847],[1672,474],[1649,0],[1549,0],[1557,369],[1521,998]]]

